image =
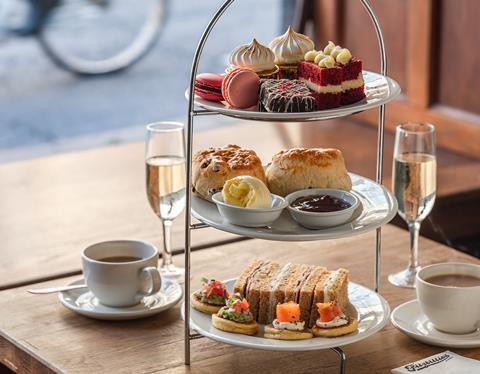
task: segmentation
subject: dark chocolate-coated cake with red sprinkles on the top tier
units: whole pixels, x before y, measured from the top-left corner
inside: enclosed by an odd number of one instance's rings
[[[315,98],[298,79],[263,79],[258,106],[262,112],[311,112],[315,110]]]

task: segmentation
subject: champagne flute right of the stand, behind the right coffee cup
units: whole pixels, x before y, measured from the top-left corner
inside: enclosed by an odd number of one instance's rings
[[[420,270],[420,224],[433,208],[437,189],[435,127],[420,123],[397,126],[393,158],[392,189],[398,213],[410,232],[410,260],[405,270],[390,274],[388,280],[398,287],[415,288],[415,276]]]

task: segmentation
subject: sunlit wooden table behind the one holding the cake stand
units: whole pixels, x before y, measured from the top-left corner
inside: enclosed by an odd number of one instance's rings
[[[374,176],[376,130],[370,126],[346,119],[319,125],[223,120],[223,126],[197,131],[194,148],[233,142],[257,150],[266,163],[282,148],[337,147],[349,170]],[[196,125],[212,121],[219,119],[201,118]],[[387,186],[392,144],[387,133]],[[93,242],[141,238],[160,247],[161,225],[145,196],[143,157],[143,143],[133,143],[0,165],[0,290],[79,274],[80,252]],[[478,163],[442,150],[438,160],[437,196],[480,187]],[[461,179],[458,170],[464,171]],[[183,247],[182,228],[179,218],[173,238],[177,249]],[[194,247],[238,239],[208,231],[193,232]]]

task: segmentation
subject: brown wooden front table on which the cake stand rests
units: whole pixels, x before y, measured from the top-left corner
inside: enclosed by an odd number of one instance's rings
[[[415,297],[413,290],[388,284],[388,273],[406,265],[408,235],[387,225],[383,230],[381,293],[390,306]],[[204,234],[205,235],[205,234]],[[320,242],[242,241],[192,254],[194,288],[200,277],[227,279],[254,257],[346,267],[351,280],[373,283],[373,233]],[[421,238],[424,265],[441,261],[480,261]],[[181,260],[178,258],[177,260]],[[35,286],[67,283],[78,277]],[[386,373],[445,348],[412,340],[388,324],[367,340],[344,347],[347,373]],[[454,349],[480,359],[478,349]],[[305,353],[243,349],[203,338],[192,342],[192,365],[183,365],[183,323],[179,307],[137,321],[105,322],[65,309],[56,295],[34,296],[25,287],[0,292],[0,361],[17,372],[49,373],[337,373],[331,351]]]

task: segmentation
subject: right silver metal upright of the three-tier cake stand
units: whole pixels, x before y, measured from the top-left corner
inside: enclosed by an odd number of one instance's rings
[[[380,49],[380,73],[387,75],[387,52],[385,41],[383,39],[382,29],[375,12],[368,0],[360,0],[367,11],[377,34],[378,48]],[[378,184],[383,182],[383,150],[385,136],[385,105],[381,105],[378,111],[378,134],[377,134],[377,164],[375,179]],[[381,254],[382,229],[379,227],[375,233],[375,269],[374,269],[374,289],[378,293],[380,287],[380,254]]]

